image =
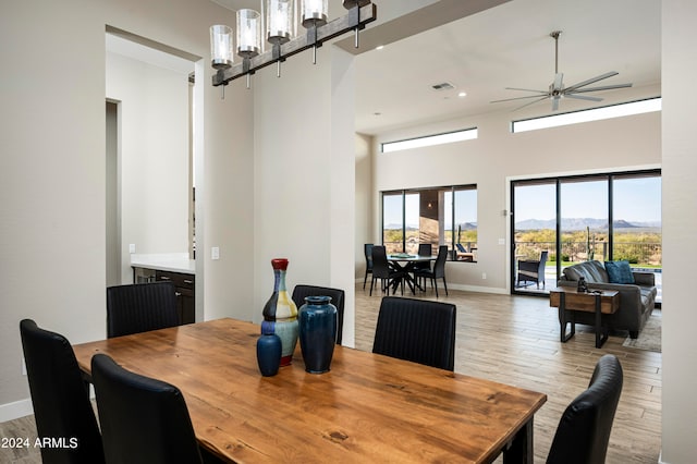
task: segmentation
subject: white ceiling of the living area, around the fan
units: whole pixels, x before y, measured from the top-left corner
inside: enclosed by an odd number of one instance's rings
[[[657,96],[660,9],[658,0],[513,0],[364,52],[356,65],[356,130],[376,134],[514,110],[530,100],[490,101],[533,95],[505,87],[547,90],[554,78],[552,30],[562,30],[559,71],[565,86],[608,71],[620,74],[597,85],[634,84],[632,89],[586,94],[602,97],[599,103],[562,100],[560,111]],[[445,82],[455,88],[431,88]],[[460,91],[467,96],[457,97]],[[549,114],[551,103],[538,102],[521,113]]]

